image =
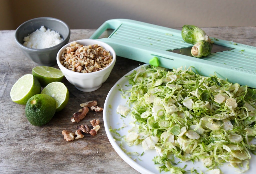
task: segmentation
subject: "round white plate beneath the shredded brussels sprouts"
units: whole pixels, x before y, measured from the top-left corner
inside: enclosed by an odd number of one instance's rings
[[[147,64],[145,64],[146,66]],[[137,70],[140,67],[135,68],[134,70]],[[125,76],[131,74],[134,70],[127,73]],[[136,169],[137,171],[145,174],[149,173],[159,173],[157,170],[156,165],[154,164],[153,158],[157,155],[155,150],[146,151],[142,156],[136,157],[128,156],[120,147],[119,141],[115,141],[115,137],[118,138],[118,136],[115,133],[110,132],[110,128],[112,129],[119,129],[123,126],[123,124],[126,124],[127,127],[121,129],[118,131],[121,135],[127,135],[128,130],[132,128],[132,126],[129,125],[130,121],[132,120],[130,116],[127,116],[126,118],[122,117],[120,114],[116,113],[116,108],[119,104],[126,105],[128,98],[123,98],[122,92],[120,89],[128,90],[131,88],[131,85],[129,85],[129,78],[123,76],[116,84],[112,87],[110,90],[108,96],[106,97],[106,101],[104,104],[104,111],[103,111],[103,119],[104,119],[104,126],[106,130],[106,134],[109,138],[109,141],[115,151],[123,158],[123,160],[128,163],[131,167]],[[129,86],[128,86],[129,85]],[[127,152],[138,152],[138,154],[143,153],[142,146],[127,146],[125,142],[123,141],[123,147],[127,150]],[[250,169],[247,172],[244,172],[246,174],[253,174],[256,171],[256,165],[254,163],[256,162],[256,156],[251,154],[252,158],[250,159]],[[139,159],[138,159],[139,158]],[[134,160],[136,159],[136,160]],[[200,161],[196,161],[194,164],[192,161],[182,162],[178,166],[184,167],[184,165],[187,165],[185,170],[190,170],[192,167],[194,169],[197,169],[198,172],[202,170],[204,173],[207,170],[206,167],[202,165]],[[223,171],[223,173],[238,173],[237,169],[234,167],[231,167],[228,165],[228,163],[224,164],[220,167],[220,169]],[[161,172],[163,173],[169,173],[169,172]],[[190,172],[188,172],[190,173]],[[207,172],[206,172],[207,173]]]

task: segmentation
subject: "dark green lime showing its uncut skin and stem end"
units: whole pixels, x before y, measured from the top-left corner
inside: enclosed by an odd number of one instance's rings
[[[37,94],[29,98],[26,117],[31,125],[43,126],[48,123],[56,112],[56,101],[47,94]]]

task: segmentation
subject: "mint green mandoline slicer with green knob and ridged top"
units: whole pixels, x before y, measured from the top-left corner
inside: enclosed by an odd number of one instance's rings
[[[222,79],[256,88],[254,46],[211,38],[214,44],[230,49],[196,58],[172,52],[193,46],[184,42],[180,30],[128,19],[104,22],[90,39],[98,39],[109,29],[113,30],[109,37],[99,40],[112,46],[118,56],[170,69],[193,66],[203,76],[216,73]]]

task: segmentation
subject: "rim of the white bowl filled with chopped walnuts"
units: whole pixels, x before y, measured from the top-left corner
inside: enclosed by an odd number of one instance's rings
[[[62,52],[64,51],[64,49],[65,49],[66,47],[68,47],[71,43],[73,43],[73,42],[79,43],[79,42],[83,42],[83,41],[98,42],[98,43],[96,43],[96,44],[98,44],[98,45],[100,45],[100,46],[102,46],[102,47],[104,47],[104,48],[105,48],[105,45],[109,46],[109,47],[112,49],[112,51],[110,51],[110,50],[108,50],[108,51],[111,52],[111,55],[113,56],[113,60],[112,60],[112,62],[110,63],[110,65],[107,66],[106,68],[100,70],[100,71],[87,72],[87,73],[71,71],[70,69],[64,67],[64,66],[60,63],[60,56],[61,56],[61,53],[62,53]],[[102,44],[103,44],[103,45],[102,45]],[[59,68],[61,69],[61,71],[65,71],[66,73],[71,73],[71,74],[73,74],[73,75],[89,76],[90,74],[97,75],[97,73],[102,73],[102,71],[106,71],[107,69],[109,69],[109,68],[111,68],[112,66],[114,66],[114,65],[115,65],[115,62],[116,62],[116,53],[115,53],[114,48],[113,48],[112,46],[110,46],[109,44],[105,43],[105,42],[102,42],[102,41],[99,41],[99,40],[94,40],[94,39],[80,39],[80,40],[76,40],[76,41],[69,42],[69,43],[67,43],[66,45],[64,45],[62,48],[60,48],[60,50],[59,50],[58,53],[57,53],[56,58],[57,58],[57,64],[58,64]],[[64,75],[65,75],[65,72],[63,72]]]

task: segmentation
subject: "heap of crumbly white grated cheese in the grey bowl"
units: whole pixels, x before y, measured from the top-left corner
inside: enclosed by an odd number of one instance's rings
[[[24,38],[24,46],[29,48],[49,48],[59,44],[63,39],[60,34],[51,29],[46,29],[42,26],[39,30],[29,34]]]

